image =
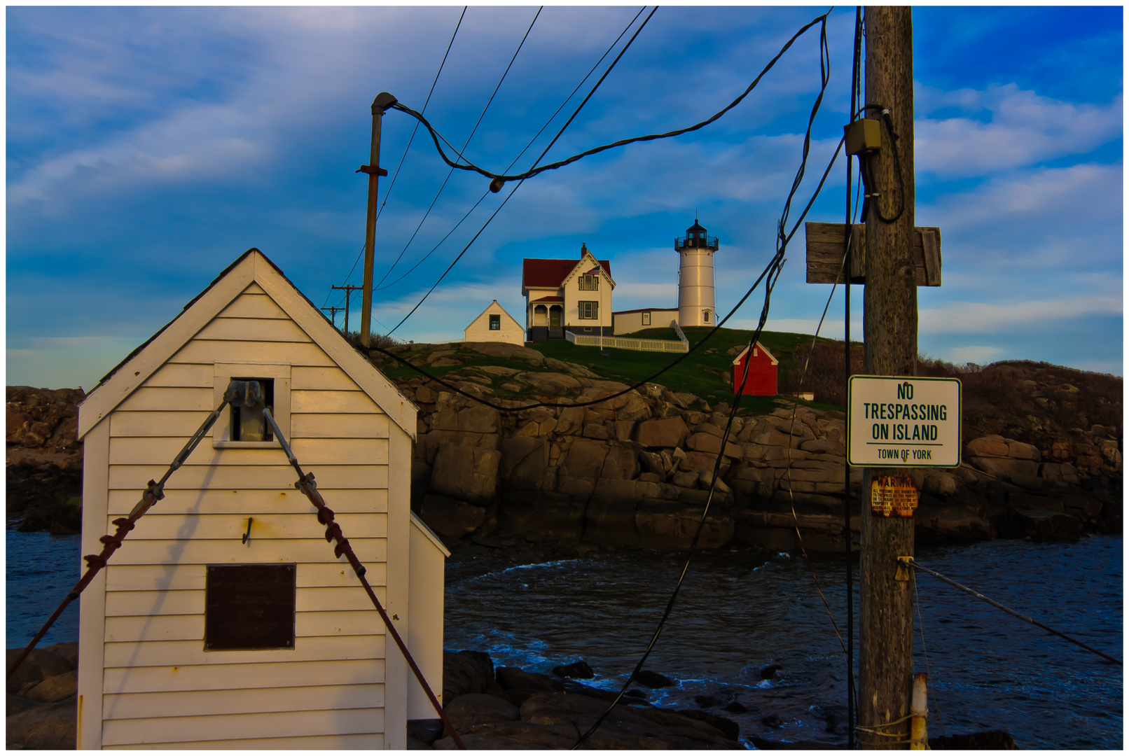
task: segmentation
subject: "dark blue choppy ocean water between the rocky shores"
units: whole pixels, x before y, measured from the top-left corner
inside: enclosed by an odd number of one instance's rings
[[[8,530],[7,647],[26,644],[79,578],[78,536]],[[992,540],[925,547],[917,559],[959,582],[1111,656],[1122,656],[1122,538]],[[447,569],[445,647],[488,651],[496,666],[550,671],[584,659],[586,684],[619,689],[662,615],[681,555],[618,553],[516,564],[475,557]],[[813,556],[846,642],[842,557]],[[857,601],[857,563],[856,563]],[[1122,668],[962,594],[918,577],[929,673],[929,733],[1003,729],[1021,748],[1121,748]],[[856,603],[857,617],[857,603]],[[72,604],[42,641],[78,640]],[[856,640],[856,654],[857,654]],[[761,671],[780,670],[771,679]],[[676,680],[656,705],[695,696],[749,711],[707,711],[742,736],[846,742],[846,663],[798,554],[699,555],[646,666]]]

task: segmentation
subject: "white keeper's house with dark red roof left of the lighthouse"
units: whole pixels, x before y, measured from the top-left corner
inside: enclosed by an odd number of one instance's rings
[[[522,296],[528,341],[577,335],[612,335],[612,264],[580,245],[579,260],[527,257],[522,262]]]

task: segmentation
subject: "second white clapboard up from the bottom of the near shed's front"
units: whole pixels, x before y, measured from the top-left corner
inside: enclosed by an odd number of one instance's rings
[[[373,709],[384,705],[384,685],[277,687],[239,691],[181,691],[176,693],[121,693],[103,698],[106,719],[138,719],[271,711]]]

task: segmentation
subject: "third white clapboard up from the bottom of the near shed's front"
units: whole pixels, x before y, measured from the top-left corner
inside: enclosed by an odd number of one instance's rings
[[[150,691],[224,691],[294,685],[383,683],[383,659],[286,661],[257,665],[106,667],[103,694]]]

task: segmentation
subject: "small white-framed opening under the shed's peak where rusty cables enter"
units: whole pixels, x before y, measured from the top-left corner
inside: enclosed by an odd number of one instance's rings
[[[212,406],[218,407],[233,380],[254,381],[259,393],[240,398],[225,410],[212,425],[212,447],[279,448],[263,417],[271,411],[282,436],[290,439],[290,366],[217,362],[212,371]],[[250,399],[250,401],[248,401]]]

